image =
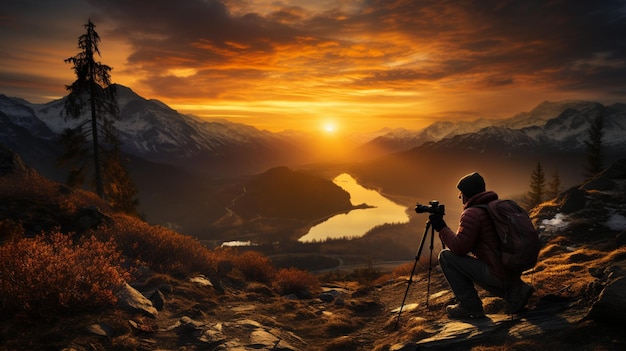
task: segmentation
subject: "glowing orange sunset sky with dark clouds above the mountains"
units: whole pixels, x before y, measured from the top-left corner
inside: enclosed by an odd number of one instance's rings
[[[0,93],[37,103],[75,79],[63,60],[89,18],[115,83],[271,131],[626,102],[623,1],[5,0],[0,11]]]

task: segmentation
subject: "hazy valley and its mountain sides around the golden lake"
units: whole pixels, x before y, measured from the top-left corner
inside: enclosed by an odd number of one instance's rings
[[[438,200],[454,226],[462,210],[455,184],[470,172],[483,175],[500,197],[520,202],[538,163],[546,177],[558,175],[560,190],[579,184],[587,163],[588,128],[598,116],[605,121],[604,162],[621,157],[626,147],[624,104],[546,101],[502,120],[442,119],[423,130],[386,130],[350,139],[344,158],[330,161],[316,152],[320,140],[310,133],[272,133],[202,120],[128,87],[116,88],[120,118],[114,127],[139,190],[138,211],[149,224],[193,236],[209,247],[251,241],[257,246],[247,249],[283,261],[293,256],[292,261],[312,270],[338,261],[412,260],[425,221],[414,206]],[[55,164],[61,152],[58,134],[77,123],[64,120],[63,102],[31,104],[0,95],[0,122],[6,131],[0,142],[59,182],[66,170]],[[405,206],[409,222],[382,225],[357,239],[297,242],[330,216],[367,206],[352,204],[332,184],[341,173]]]

